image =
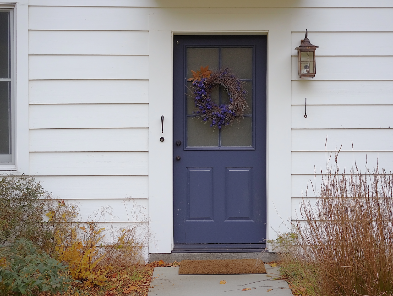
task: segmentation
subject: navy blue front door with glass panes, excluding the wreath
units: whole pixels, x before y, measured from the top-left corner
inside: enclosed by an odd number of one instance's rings
[[[174,251],[255,250],[266,238],[266,35],[174,36]],[[231,126],[195,113],[191,70],[229,68],[249,110]],[[217,87],[218,105],[228,93]]]

